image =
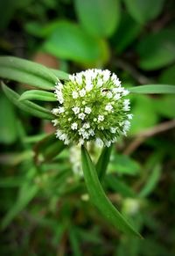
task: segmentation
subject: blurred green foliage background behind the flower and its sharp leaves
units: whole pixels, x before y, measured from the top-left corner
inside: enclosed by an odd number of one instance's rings
[[[175,84],[174,10],[174,0],[0,0],[0,54],[68,73],[110,69],[126,87]],[[130,99],[130,135],[116,144],[103,187],[144,240],[114,230],[88,201],[79,150],[43,161],[46,144],[35,143],[51,123],[1,91],[0,255],[175,255],[175,98]]]

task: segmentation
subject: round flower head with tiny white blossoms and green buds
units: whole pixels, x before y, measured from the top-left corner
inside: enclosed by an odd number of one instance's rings
[[[129,91],[108,69],[88,69],[56,83],[58,106],[52,109],[56,136],[64,143],[95,142],[109,147],[130,128]]]

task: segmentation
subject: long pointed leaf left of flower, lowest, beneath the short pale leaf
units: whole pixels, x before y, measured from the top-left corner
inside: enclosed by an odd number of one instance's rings
[[[2,88],[7,98],[10,99],[11,102],[16,106],[18,106],[20,109],[42,119],[48,119],[48,120],[53,119],[53,115],[49,110],[45,109],[42,106],[38,106],[37,104],[29,100],[25,100],[23,102],[19,101],[20,96],[18,95],[18,93],[11,90],[4,83],[2,83]]]

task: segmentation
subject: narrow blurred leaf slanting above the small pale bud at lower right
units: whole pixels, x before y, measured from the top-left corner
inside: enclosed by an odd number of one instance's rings
[[[156,165],[153,170],[151,170],[150,177],[146,180],[146,184],[143,189],[140,191],[140,197],[146,197],[155,189],[158,185],[158,181],[161,177],[161,166]]]

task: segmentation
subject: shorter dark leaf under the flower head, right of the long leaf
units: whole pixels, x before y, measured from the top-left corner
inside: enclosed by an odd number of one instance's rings
[[[111,154],[112,146],[111,147],[104,147],[102,150],[102,154],[96,163],[96,172],[100,180],[102,180],[105,176],[107,171],[107,167],[109,165],[110,154]]]

